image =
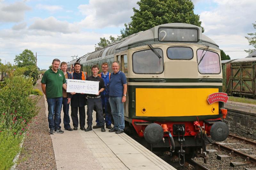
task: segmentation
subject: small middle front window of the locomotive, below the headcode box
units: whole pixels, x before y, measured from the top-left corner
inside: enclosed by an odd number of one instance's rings
[[[190,60],[193,58],[193,50],[189,47],[169,47],[167,57],[172,60]]]

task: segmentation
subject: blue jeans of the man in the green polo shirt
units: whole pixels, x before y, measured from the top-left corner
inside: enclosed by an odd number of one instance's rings
[[[48,103],[48,123],[50,129],[60,129],[60,111],[62,97],[47,98]]]

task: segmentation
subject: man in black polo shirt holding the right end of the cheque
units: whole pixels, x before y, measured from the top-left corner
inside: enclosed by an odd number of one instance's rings
[[[89,81],[98,81],[99,82],[99,93],[98,94],[88,94],[87,100],[87,124],[88,127],[85,129],[86,132],[92,130],[92,111],[94,106],[98,112],[98,118],[100,121],[101,131],[105,132],[105,121],[103,118],[103,109],[101,104],[100,92],[103,92],[105,89],[105,84],[102,78],[98,76],[99,67],[97,65],[92,66],[92,76],[86,78]]]

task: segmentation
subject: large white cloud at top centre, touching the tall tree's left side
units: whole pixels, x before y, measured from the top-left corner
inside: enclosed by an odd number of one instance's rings
[[[138,7],[137,0],[90,0],[89,4],[79,5],[78,9],[86,17],[78,23],[85,28],[124,26],[131,21],[132,8]]]

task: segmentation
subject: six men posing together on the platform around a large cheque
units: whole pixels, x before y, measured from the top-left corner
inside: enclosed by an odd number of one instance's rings
[[[60,67],[60,70],[59,70]],[[59,59],[52,61],[52,68],[45,71],[41,80],[41,87],[48,103],[48,124],[49,134],[64,133],[61,130],[60,112],[63,105],[64,129],[68,131],[77,130],[78,123],[80,129],[91,131],[101,128],[105,132],[117,134],[124,132],[124,102],[126,101],[127,80],[125,74],[119,70],[117,62],[112,63],[113,73],[108,72],[108,63],[102,63],[102,72],[99,73],[99,66],[92,66],[92,76],[87,77],[87,73],[81,71],[81,64],[74,63],[74,72],[67,72],[67,63],[60,63]],[[67,90],[67,79],[88,80],[99,82],[98,94],[84,94],[70,92]],[[87,99],[87,100],[86,100]],[[71,106],[71,119],[73,129],[70,127],[69,103]],[[85,129],[85,105],[87,105],[87,125]],[[96,112],[96,125],[92,127],[92,112]],[[105,120],[103,116],[105,112]],[[79,110],[79,121],[78,121]],[[114,119],[114,127],[111,127],[111,112]]]

